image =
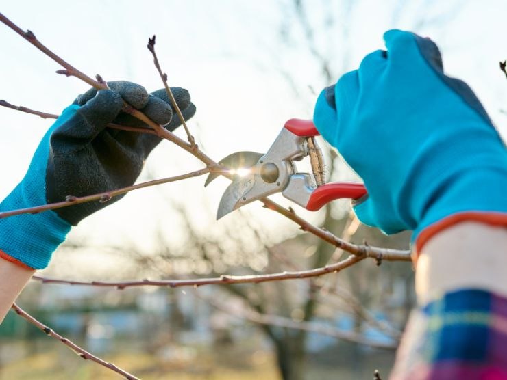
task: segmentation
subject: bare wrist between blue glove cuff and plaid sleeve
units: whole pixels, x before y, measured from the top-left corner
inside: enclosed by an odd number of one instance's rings
[[[424,305],[444,293],[480,288],[507,297],[507,228],[466,221],[436,234],[419,254],[415,286]]]

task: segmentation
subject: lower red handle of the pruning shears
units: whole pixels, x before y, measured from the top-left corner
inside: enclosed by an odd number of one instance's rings
[[[317,211],[332,200],[340,198],[358,199],[366,195],[364,185],[359,182],[334,182],[317,187],[310,195],[306,209]]]

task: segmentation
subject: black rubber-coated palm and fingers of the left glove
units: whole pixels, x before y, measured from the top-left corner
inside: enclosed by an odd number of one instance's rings
[[[134,184],[148,154],[160,143],[160,137],[106,128],[114,122],[146,127],[140,120],[121,112],[122,99],[143,111],[148,118],[169,131],[180,126],[164,89],[148,94],[143,86],[127,81],[109,82],[110,90],[88,90],[77,97],[81,106],[69,120],[51,135],[51,149],[46,169],[47,202],[60,202],[67,195],[83,196]],[[190,94],[180,87],[171,88],[185,120],[195,113]],[[76,225],[108,203],[87,202],[59,208],[55,212]]]

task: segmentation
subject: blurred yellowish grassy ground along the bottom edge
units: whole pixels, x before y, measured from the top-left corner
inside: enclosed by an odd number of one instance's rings
[[[41,333],[42,334],[42,333]],[[117,347],[127,347],[119,344]],[[182,347],[180,347],[181,349]],[[1,380],[106,380],[119,379],[119,375],[95,363],[73,356],[69,349],[58,342],[38,341],[34,347],[30,342],[1,342],[1,350],[13,355],[29,350],[33,354],[23,355],[8,364],[0,365]],[[334,350],[333,350],[334,351]],[[4,352],[3,352],[4,353]],[[334,351],[336,354],[336,351]],[[2,355],[5,358],[6,355]],[[367,363],[343,363],[346,356],[325,358],[325,354],[309,363],[306,379],[371,379],[373,370],[379,368],[386,375],[392,362],[391,355],[380,353]],[[179,359],[162,359],[148,353],[122,351],[105,355],[103,359],[128,370],[141,379],[174,380],[277,380],[280,379],[274,357],[269,351],[259,351],[249,344],[217,347],[217,350],[183,347]],[[334,363],[332,363],[334,362]]]

